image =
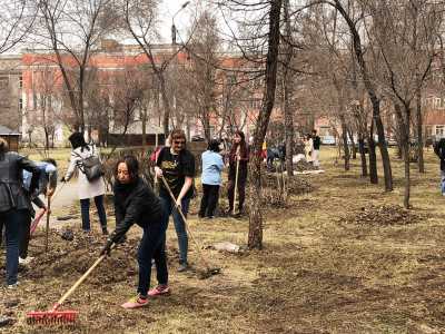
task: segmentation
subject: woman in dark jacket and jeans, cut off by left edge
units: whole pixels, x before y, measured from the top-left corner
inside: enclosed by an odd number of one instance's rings
[[[32,209],[22,188],[22,169],[32,173],[31,189],[37,187],[40,171],[34,163],[8,149],[8,143],[0,138],[0,230],[6,227],[7,285],[13,288],[19,266],[19,228]]]

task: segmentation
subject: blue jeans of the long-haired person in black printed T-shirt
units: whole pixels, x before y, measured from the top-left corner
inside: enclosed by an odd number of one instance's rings
[[[180,214],[176,210],[176,206],[171,197],[160,196],[159,198],[168,216],[170,216],[171,214],[171,216],[174,217],[176,235],[178,236],[179,263],[187,264],[188,235],[187,235],[186,224],[182,222],[182,217],[180,216]],[[189,204],[190,204],[190,198],[182,198],[181,210],[186,218]]]

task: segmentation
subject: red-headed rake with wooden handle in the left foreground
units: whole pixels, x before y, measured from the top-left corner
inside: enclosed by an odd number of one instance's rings
[[[102,262],[107,255],[101,255],[92,266],[70,287],[70,289],[49,311],[33,311],[27,313],[28,324],[69,324],[76,322],[79,312],[73,310],[58,311],[63,302],[88,277],[89,274]]]

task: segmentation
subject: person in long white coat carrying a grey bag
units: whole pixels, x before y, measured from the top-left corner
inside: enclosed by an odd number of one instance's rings
[[[83,135],[80,132],[73,132],[68,140],[71,143],[72,151],[70,157],[70,165],[68,167],[67,174],[60,181],[68,181],[76,169],[79,170],[78,176],[78,191],[80,199],[80,208],[82,215],[82,229],[88,233],[91,229],[90,225],[90,198],[95,199],[96,208],[99,215],[100,226],[102,228],[102,234],[107,235],[107,214],[103,206],[103,195],[105,195],[105,183],[103,178],[99,177],[93,181],[89,181],[87,176],[82,171],[82,159],[88,158],[92,155],[98,155],[98,151],[93,145],[88,145],[85,141]]]

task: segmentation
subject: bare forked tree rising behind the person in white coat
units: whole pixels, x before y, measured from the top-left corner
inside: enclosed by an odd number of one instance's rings
[[[91,55],[116,27],[107,16],[110,0],[33,0],[39,11],[37,41],[55,53],[68,100],[76,116],[75,128],[85,131],[85,94]]]

